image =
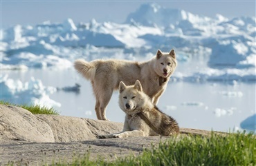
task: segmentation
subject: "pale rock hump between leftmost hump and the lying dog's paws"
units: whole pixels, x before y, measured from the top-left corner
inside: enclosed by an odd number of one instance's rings
[[[53,131],[55,142],[85,141],[96,139],[98,135],[122,131],[122,123],[98,121],[59,115],[36,115],[48,123]]]

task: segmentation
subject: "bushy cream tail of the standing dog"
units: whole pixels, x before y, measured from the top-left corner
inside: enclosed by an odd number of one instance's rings
[[[82,74],[82,76],[85,77],[85,79],[91,81],[94,79],[95,72],[97,69],[95,64],[93,65],[87,61],[84,61],[84,59],[77,59],[74,62],[74,67],[77,70],[77,72],[79,72],[80,74]]]

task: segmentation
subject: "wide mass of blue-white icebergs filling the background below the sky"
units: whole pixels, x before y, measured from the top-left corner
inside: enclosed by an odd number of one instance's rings
[[[255,17],[204,17],[143,4],[125,23],[46,21],[1,29],[1,70],[73,68],[75,59],[146,59],[176,49],[179,62],[207,57],[209,68],[174,72],[174,81],[256,81]],[[210,55],[210,59],[208,59]],[[204,60],[205,61],[205,60]]]

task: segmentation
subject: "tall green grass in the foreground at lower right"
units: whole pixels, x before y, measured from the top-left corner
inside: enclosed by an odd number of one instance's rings
[[[118,158],[113,162],[89,160],[89,154],[73,163],[55,165],[256,165],[256,138],[253,134],[236,133],[219,136],[184,136],[145,149],[140,156]]]

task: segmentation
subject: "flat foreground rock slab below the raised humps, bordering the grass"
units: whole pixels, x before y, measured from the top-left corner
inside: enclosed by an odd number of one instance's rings
[[[3,143],[1,145],[1,165],[12,161],[15,165],[44,165],[55,162],[69,162],[90,152],[90,159],[98,156],[105,160],[138,155],[151,143],[159,143],[167,137],[113,138],[70,143]]]

